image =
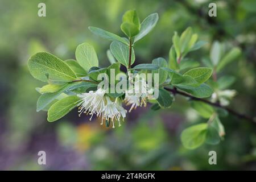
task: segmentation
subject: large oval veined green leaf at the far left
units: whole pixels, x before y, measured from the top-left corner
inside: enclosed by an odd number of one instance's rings
[[[52,79],[60,81],[72,81],[76,79],[76,74],[62,60],[48,52],[39,52],[31,56],[28,60],[28,70],[31,75],[47,82],[47,74]]]

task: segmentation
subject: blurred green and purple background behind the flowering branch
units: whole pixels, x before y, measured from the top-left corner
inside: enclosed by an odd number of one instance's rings
[[[38,16],[40,2],[46,3],[46,17]],[[217,17],[208,16],[210,2],[217,3]],[[213,40],[238,46],[242,56],[223,72],[237,78],[232,89],[238,95],[230,107],[255,115],[255,7],[254,0],[0,0],[0,169],[256,169],[256,123],[232,115],[221,118],[225,140],[196,150],[181,145],[180,133],[205,119],[181,97],[170,109],[138,108],[115,130],[102,127],[96,119],[79,118],[76,109],[49,123],[46,112],[36,112],[35,87],[43,83],[27,69],[28,58],[36,52],[73,59],[76,46],[83,42],[93,44],[100,65],[106,66],[110,42],[94,36],[88,26],[123,35],[119,24],[126,10],[137,9],[141,20],[158,13],[157,26],[135,47],[137,64],[168,58],[174,31],[180,33],[188,26],[208,42],[189,53],[194,60],[209,57]],[[47,155],[42,166],[37,163],[41,150]],[[208,164],[210,150],[217,152],[217,165]]]

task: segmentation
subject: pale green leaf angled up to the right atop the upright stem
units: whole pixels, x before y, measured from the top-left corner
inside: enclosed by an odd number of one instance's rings
[[[141,23],[141,29],[139,30],[139,34],[135,36],[134,43],[142,39],[145,35],[147,35],[155,27],[157,22],[158,22],[157,13],[153,13],[147,16],[147,18],[145,18]]]

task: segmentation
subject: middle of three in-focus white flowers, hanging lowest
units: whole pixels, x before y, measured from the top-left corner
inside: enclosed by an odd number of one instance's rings
[[[117,100],[116,100],[116,102],[113,102],[110,100],[110,98],[108,96],[106,96],[106,101],[107,101],[107,104],[104,109],[103,117],[107,121],[110,121],[110,120],[112,121],[113,128],[115,127],[115,125],[114,125],[115,120],[118,121],[118,123],[119,123],[118,126],[121,126],[120,118],[121,117],[125,118],[127,111],[125,109],[123,109],[123,107],[121,105],[118,105]],[[101,125],[102,124],[103,124],[103,120],[101,121]]]

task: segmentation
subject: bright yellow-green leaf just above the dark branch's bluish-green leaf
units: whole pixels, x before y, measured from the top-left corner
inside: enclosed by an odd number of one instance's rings
[[[212,68],[193,68],[184,73],[183,76],[191,76],[194,78],[199,84],[203,84],[203,82],[207,81],[209,77],[212,75]]]

